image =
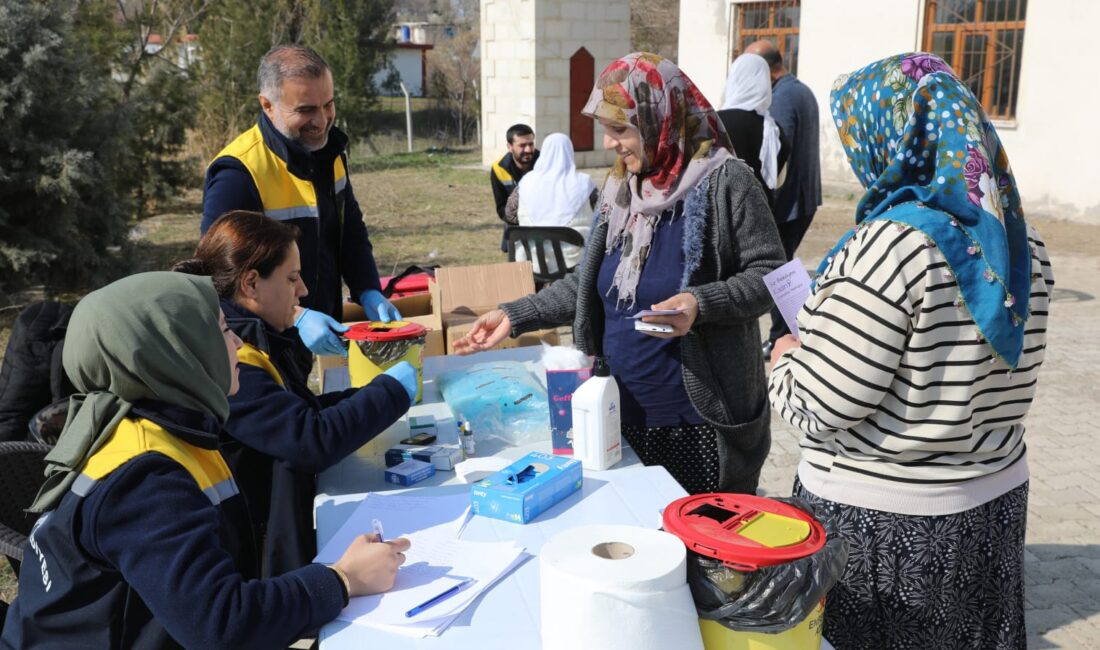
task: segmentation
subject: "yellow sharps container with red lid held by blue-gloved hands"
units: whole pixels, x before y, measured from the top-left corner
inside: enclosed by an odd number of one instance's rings
[[[416,368],[417,390],[415,401],[424,392],[424,340],[428,329],[422,324],[395,320],[393,322],[360,322],[344,332],[353,343],[348,346],[348,371],[352,386],[365,386],[386,368],[407,361]]]

